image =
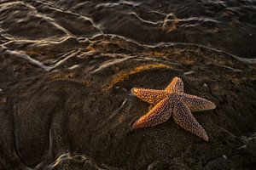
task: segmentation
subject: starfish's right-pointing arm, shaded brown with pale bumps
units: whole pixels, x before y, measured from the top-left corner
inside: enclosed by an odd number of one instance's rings
[[[216,108],[216,105],[207,99],[190,94],[183,94],[182,96],[184,103],[189,106],[190,111],[207,111]]]

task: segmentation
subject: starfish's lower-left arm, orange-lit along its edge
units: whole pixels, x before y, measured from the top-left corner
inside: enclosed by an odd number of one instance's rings
[[[170,99],[166,98],[161,100],[151,111],[147,114],[141,116],[132,125],[132,129],[142,128],[142,127],[154,127],[162,122],[166,122],[172,116],[172,103]]]

